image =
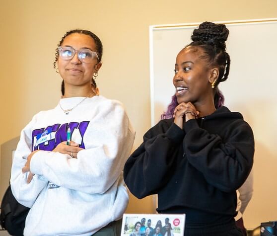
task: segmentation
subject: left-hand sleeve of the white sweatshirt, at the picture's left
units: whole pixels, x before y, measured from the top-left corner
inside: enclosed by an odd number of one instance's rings
[[[10,185],[16,200],[26,206],[32,207],[41,190],[47,186],[48,180],[43,176],[34,175],[32,181],[27,184],[29,172],[22,173],[21,169],[26,163],[26,159],[31,154],[32,146],[32,127],[35,118],[21,131],[20,140],[14,153],[14,159],[11,167]]]

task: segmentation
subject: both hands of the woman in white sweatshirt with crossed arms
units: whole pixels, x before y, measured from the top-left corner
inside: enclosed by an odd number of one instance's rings
[[[62,154],[68,154],[72,158],[77,158],[77,153],[83,150],[82,148],[79,148],[79,144],[70,141],[70,145],[67,145],[67,142],[62,142],[57,145],[57,147],[52,152],[59,152]],[[30,172],[27,177],[27,183],[30,183],[34,174],[30,171],[30,163],[33,155],[40,150],[33,151],[28,157],[27,161],[25,163],[25,166],[21,169],[22,173]]]

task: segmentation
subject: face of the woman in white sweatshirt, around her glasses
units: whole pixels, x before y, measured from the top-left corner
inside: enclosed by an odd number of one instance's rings
[[[69,34],[61,46],[71,47],[78,51],[81,49],[90,49],[96,51],[96,44],[92,37],[80,33]],[[88,85],[91,86],[93,73],[98,71],[101,63],[97,64],[97,58],[91,63],[83,63],[78,59],[77,53],[71,60],[58,58],[58,67],[61,77],[65,80],[65,86],[69,85]]]

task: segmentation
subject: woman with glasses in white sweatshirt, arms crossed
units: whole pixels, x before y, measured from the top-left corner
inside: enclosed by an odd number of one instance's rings
[[[31,208],[24,235],[120,235],[128,204],[122,169],[135,132],[122,104],[92,86],[101,58],[102,43],[87,30],[58,44],[64,96],[22,130],[12,164],[13,195]]]

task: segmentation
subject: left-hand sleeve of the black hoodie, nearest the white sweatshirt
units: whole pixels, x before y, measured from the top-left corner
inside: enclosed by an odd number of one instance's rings
[[[144,135],[143,143],[124,167],[124,180],[139,199],[155,194],[168,181],[171,168],[176,163],[173,153],[184,138],[184,131],[174,123],[167,131],[162,124],[160,121]]]

